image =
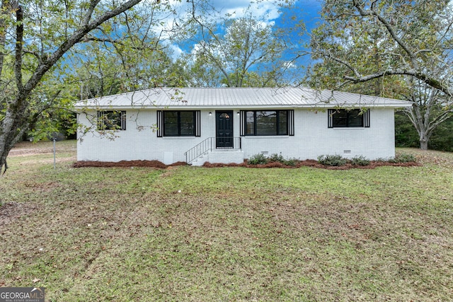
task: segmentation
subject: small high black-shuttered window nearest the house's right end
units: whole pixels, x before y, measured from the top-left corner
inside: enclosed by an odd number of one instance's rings
[[[369,127],[369,110],[329,109],[329,128]]]

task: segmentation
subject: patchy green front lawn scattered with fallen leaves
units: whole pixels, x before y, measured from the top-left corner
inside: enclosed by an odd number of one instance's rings
[[[9,158],[0,286],[48,301],[453,300],[452,153],[157,170],[71,168],[74,145],[57,143],[56,169],[52,153]]]

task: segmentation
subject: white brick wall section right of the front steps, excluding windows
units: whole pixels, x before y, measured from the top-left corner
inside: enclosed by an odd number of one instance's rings
[[[245,137],[244,156],[281,152],[287,158],[301,160],[333,154],[345,158],[394,157],[394,110],[371,109],[370,119],[369,128],[328,128],[327,110],[294,110],[294,137]]]

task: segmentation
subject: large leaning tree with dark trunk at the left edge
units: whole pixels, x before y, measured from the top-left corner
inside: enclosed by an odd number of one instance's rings
[[[93,33],[113,33],[108,21],[141,1],[2,0],[0,166],[5,171],[6,157],[16,141],[64,97],[59,80],[69,67],[62,63],[74,45],[100,42]],[[159,2],[149,5],[164,5]]]

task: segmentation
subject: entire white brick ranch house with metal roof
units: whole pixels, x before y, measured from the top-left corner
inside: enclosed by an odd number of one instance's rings
[[[258,153],[395,156],[402,100],[308,88],[159,88],[84,100],[78,161],[241,163]],[[104,135],[105,134],[105,135]]]

